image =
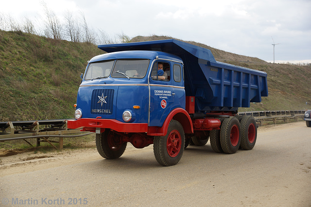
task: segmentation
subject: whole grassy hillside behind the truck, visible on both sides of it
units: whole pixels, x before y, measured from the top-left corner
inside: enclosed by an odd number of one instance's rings
[[[138,36],[131,41],[158,39],[171,37]],[[190,43],[210,49],[218,61],[268,73],[269,96],[241,111],[301,110],[306,109],[306,101],[311,102],[311,66],[268,64]],[[86,43],[0,31],[0,121],[72,118],[79,75],[87,60],[102,53]]]

